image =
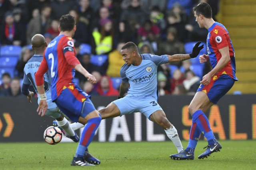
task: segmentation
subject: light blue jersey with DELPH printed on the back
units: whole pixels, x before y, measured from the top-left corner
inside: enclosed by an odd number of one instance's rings
[[[25,67],[24,67],[24,78],[23,78],[23,83],[26,85],[30,85],[32,84],[37,96],[38,96],[38,104],[40,101],[40,97],[38,95],[38,91],[36,89],[36,81],[35,81],[35,74],[36,71],[38,70],[40,63],[43,59],[42,55],[33,55],[28,62],[26,63]],[[44,74],[44,91],[46,94],[46,101],[48,104],[48,109],[52,109],[57,107],[57,105],[55,103],[52,102],[52,96],[51,96],[51,89],[50,89],[50,79],[48,78],[49,75],[49,71],[47,73]]]

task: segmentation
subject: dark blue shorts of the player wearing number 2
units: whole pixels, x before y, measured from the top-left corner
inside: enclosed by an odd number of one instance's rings
[[[90,96],[74,84],[64,86],[55,103],[74,122],[78,122],[79,117],[86,117],[96,110]]]

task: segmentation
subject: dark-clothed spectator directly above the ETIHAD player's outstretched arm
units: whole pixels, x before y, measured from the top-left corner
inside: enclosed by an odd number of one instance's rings
[[[163,53],[168,55],[185,53],[184,44],[177,39],[177,30],[174,27],[168,28],[166,41],[159,43],[158,55],[161,55]],[[180,61],[179,63],[172,64],[180,67],[182,62]]]

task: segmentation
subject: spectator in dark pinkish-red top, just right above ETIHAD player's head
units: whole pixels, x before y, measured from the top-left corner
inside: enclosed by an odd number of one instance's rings
[[[152,24],[152,22],[148,19],[138,29],[138,42],[149,42],[154,51],[157,51],[157,42],[160,38],[160,28]]]

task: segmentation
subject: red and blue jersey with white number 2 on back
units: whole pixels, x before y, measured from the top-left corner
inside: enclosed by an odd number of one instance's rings
[[[71,53],[70,53],[71,52]],[[68,55],[67,55],[68,54]],[[71,37],[60,35],[52,40],[46,50],[40,68],[36,85],[40,85],[41,75],[50,71],[52,101],[56,100],[63,88],[74,88],[75,70],[72,63],[80,63],[76,58],[74,42]]]

